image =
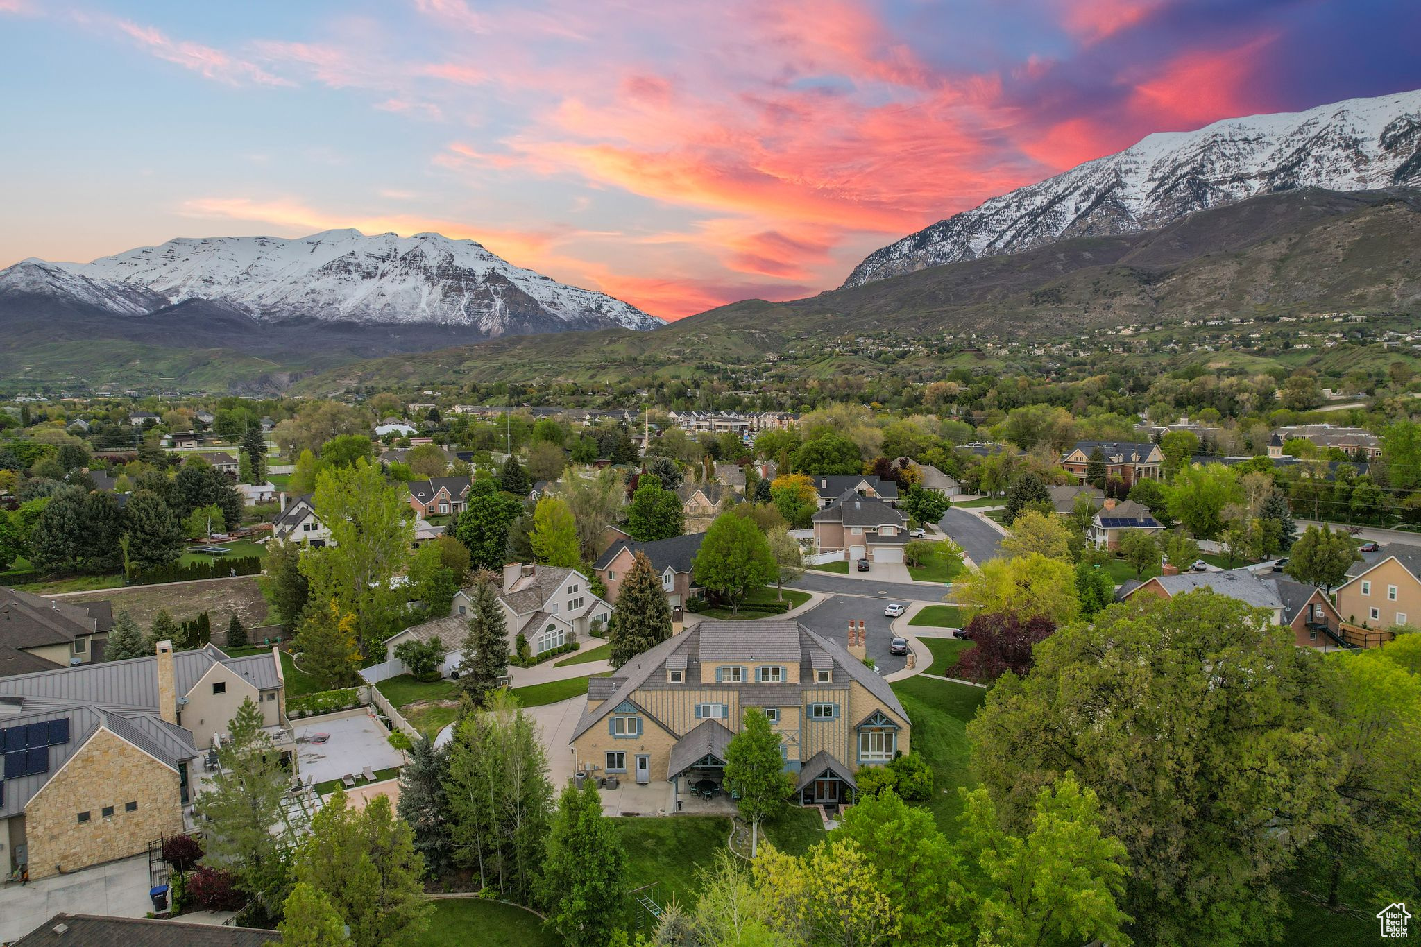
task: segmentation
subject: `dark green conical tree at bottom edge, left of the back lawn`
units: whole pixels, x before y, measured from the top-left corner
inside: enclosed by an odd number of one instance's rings
[[[621,912],[625,869],[627,852],[603,815],[597,785],[564,787],[537,886],[549,927],[570,947],[603,947]]]

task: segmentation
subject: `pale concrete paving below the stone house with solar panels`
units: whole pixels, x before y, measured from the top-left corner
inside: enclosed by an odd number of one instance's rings
[[[0,885],[0,944],[18,940],[60,912],[144,917],[151,910],[146,855],[28,885],[6,883]]]

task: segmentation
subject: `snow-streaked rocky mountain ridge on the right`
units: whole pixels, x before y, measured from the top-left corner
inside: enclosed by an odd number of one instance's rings
[[[1148,135],[875,250],[844,287],[1069,237],[1162,227],[1196,210],[1296,187],[1421,183],[1421,91]]]

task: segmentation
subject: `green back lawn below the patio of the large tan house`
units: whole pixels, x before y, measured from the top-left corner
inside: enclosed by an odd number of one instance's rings
[[[730,819],[722,815],[628,818],[612,825],[627,849],[627,890],[659,882],[644,893],[658,904],[675,897],[682,907],[696,902],[696,867],[715,865],[730,836]]]

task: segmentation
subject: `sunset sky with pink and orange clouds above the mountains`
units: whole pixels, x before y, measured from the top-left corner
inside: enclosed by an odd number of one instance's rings
[[[0,266],[334,227],[678,318],[1152,131],[1421,87],[1414,0],[0,0]]]

